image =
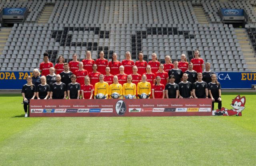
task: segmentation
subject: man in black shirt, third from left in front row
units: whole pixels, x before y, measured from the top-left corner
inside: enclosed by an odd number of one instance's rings
[[[60,82],[60,74],[56,75],[56,82],[52,84],[50,99],[66,99],[67,97],[67,87],[66,84]]]

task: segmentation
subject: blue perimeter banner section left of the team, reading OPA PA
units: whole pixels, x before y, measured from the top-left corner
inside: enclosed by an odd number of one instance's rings
[[[22,89],[27,83],[27,76],[32,76],[32,71],[0,71],[0,89]]]

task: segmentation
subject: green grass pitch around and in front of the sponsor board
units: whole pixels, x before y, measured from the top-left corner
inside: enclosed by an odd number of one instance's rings
[[[256,165],[256,94],[240,95],[242,117],[24,118],[21,94],[1,94],[0,165]]]

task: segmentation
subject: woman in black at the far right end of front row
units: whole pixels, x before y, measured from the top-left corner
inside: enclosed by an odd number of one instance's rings
[[[221,103],[221,86],[217,80],[216,74],[212,74],[212,82],[208,84],[208,90],[210,97],[212,98],[212,110],[214,108],[214,102],[218,103],[218,109],[222,107]]]

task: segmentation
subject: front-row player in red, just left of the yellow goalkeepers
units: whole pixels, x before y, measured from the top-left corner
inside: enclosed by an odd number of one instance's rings
[[[81,86],[82,99],[93,99],[94,86],[90,84],[90,78],[84,77],[84,85]]]

